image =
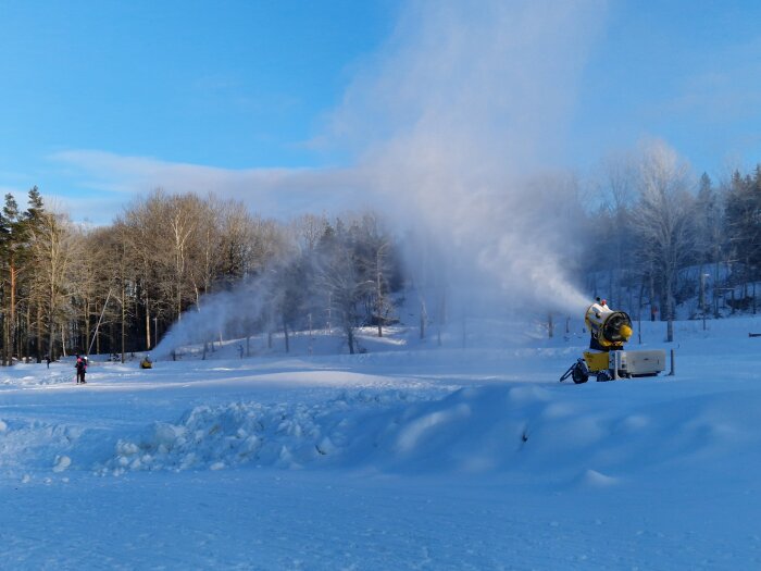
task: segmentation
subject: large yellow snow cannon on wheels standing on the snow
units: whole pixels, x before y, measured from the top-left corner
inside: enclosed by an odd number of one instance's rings
[[[656,376],[665,370],[663,349],[623,350],[633,333],[626,312],[612,310],[602,300],[589,306],[584,323],[590,334],[589,350],[563,373],[561,383],[567,377],[576,384],[586,383],[591,375],[597,381]]]

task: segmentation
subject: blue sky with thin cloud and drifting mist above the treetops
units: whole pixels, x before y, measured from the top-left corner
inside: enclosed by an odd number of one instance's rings
[[[758,2],[566,4],[2,0],[0,189],[38,185],[96,223],[157,186],[319,211],[361,194],[355,165],[431,108],[446,129],[417,145],[504,127],[506,153],[545,166],[648,137],[716,177],[761,160]],[[503,33],[479,35],[483,13]],[[473,95],[491,91],[517,95]]]

